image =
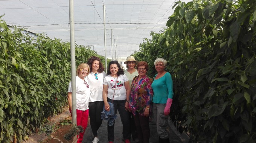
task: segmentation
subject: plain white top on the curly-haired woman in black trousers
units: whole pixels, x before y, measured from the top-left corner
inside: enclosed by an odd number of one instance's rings
[[[90,92],[90,98],[89,102],[94,102],[94,101],[103,101],[102,97],[102,91],[103,91],[103,80],[107,74],[103,71],[102,73],[98,73],[98,79],[96,79],[94,76],[94,73],[91,72],[88,76],[88,83],[91,88]]]

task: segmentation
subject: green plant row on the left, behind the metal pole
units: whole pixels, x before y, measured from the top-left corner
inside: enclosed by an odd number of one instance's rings
[[[90,47],[76,45],[75,51],[76,66],[93,55],[105,63]],[[24,33],[0,19],[0,142],[27,140],[63,111],[70,61],[69,42]]]

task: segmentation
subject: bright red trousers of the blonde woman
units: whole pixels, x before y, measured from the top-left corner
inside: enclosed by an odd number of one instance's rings
[[[84,131],[82,133],[79,133],[79,138],[78,138],[77,143],[82,143],[82,140],[84,137],[84,132],[88,125],[88,115],[89,115],[88,112],[89,112],[89,109],[85,110],[85,111],[76,109],[76,125],[82,126],[84,129]]]

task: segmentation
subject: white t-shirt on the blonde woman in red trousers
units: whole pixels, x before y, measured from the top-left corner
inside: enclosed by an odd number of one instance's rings
[[[87,77],[84,80],[88,84]],[[84,84],[84,80],[76,76],[76,109],[85,111],[89,109],[89,97],[90,97],[90,87]],[[72,92],[71,82],[69,83],[68,92]]]

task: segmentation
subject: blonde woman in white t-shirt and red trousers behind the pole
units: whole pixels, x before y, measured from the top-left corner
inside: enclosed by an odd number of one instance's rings
[[[90,86],[86,76],[90,73],[90,67],[88,64],[82,63],[76,69],[76,124],[81,125],[84,129],[87,128],[88,115],[89,115],[89,97]],[[72,87],[69,83],[69,89],[67,93],[67,100],[69,103],[69,111],[72,112]],[[77,143],[82,143],[84,132],[79,133]]]

